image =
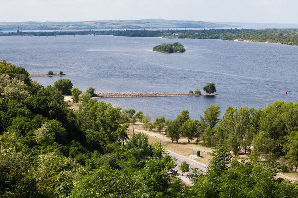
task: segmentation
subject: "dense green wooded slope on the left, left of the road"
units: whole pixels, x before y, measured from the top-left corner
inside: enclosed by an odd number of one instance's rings
[[[122,112],[86,94],[74,112],[56,87],[32,82],[5,61],[0,71],[0,197],[175,197],[183,191],[175,161],[159,144],[149,145],[144,134],[128,140],[122,118],[133,109]]]

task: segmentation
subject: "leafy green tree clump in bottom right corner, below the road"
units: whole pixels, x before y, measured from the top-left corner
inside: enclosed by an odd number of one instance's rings
[[[187,192],[191,198],[297,198],[294,183],[276,179],[277,164],[232,160],[220,147],[212,153],[206,174],[195,171],[194,185]],[[232,160],[232,161],[231,161]],[[230,165],[230,166],[229,166]],[[297,184],[296,184],[297,185]]]

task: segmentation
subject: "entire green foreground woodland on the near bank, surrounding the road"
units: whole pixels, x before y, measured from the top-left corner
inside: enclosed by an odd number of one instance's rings
[[[276,177],[285,168],[278,157],[287,167],[298,165],[298,104],[229,107],[221,119],[220,107],[211,105],[200,120],[186,110],[175,120],[156,118],[173,141],[184,136],[216,148],[206,173],[192,170],[193,185],[186,186],[158,142],[149,144],[143,133],[128,137],[128,122],[148,127],[148,115],[91,94],[72,110],[63,100],[61,89],[72,87],[65,82],[44,87],[24,68],[0,61],[1,198],[298,197],[298,182]],[[251,157],[240,160],[240,152]]]

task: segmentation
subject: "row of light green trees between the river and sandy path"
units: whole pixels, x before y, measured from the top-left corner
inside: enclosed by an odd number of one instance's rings
[[[182,111],[177,119],[169,121],[165,129],[172,141],[186,137],[193,138],[204,146],[224,146],[235,156],[250,153],[252,159],[260,155],[268,158],[282,157],[290,169],[298,167],[298,104],[276,101],[262,109],[228,107],[222,119],[220,107],[210,105],[203,111],[204,116],[190,120]],[[286,170],[286,169],[285,169]]]

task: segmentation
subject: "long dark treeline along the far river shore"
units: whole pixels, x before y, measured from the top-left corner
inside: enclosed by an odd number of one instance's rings
[[[210,29],[210,30],[109,30],[109,31],[53,31],[10,32],[0,36],[55,36],[55,35],[114,35],[127,37],[164,37],[179,39],[248,40],[257,42],[298,45],[298,29]]]

